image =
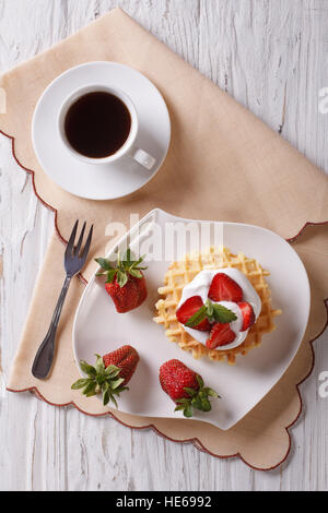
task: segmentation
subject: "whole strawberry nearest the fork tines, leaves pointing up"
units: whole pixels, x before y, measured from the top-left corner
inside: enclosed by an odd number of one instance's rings
[[[102,270],[97,276],[105,274],[105,288],[112,297],[116,311],[126,313],[140,307],[147,298],[145,278],[142,273],[147,267],[140,267],[143,258],[133,260],[130,249],[122,260],[119,255],[114,267],[107,259],[95,259]]]

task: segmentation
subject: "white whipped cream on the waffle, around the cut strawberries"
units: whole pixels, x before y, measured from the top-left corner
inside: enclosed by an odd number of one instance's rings
[[[243,274],[237,269],[232,267],[224,267],[224,269],[209,269],[200,271],[200,273],[195,276],[192,282],[188,283],[183,289],[183,295],[178,308],[192,296],[200,296],[202,301],[206,302],[208,299],[208,294],[210,289],[210,285],[212,283],[213,277],[218,273],[224,273],[234,279],[243,290],[243,301],[247,301],[251,305],[255,318],[260,314],[261,311],[261,300],[253,287],[251,283],[246,278],[245,274]],[[218,350],[226,350],[233,349],[234,347],[239,346],[246,338],[248,331],[241,332],[243,325],[243,314],[242,311],[236,302],[232,301],[212,301],[216,302],[218,305],[222,305],[225,308],[232,310],[237,319],[230,323],[231,330],[236,335],[236,338],[231,344],[225,344],[224,346],[218,346],[215,349]],[[208,332],[200,332],[199,330],[195,330],[194,327],[184,326],[184,330],[189,333],[196,341],[200,342],[201,344],[206,345],[207,339],[209,338]]]

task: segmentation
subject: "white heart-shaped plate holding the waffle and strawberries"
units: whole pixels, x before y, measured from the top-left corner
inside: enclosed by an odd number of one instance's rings
[[[190,227],[190,223],[198,228],[203,227],[202,225],[210,226],[211,229],[207,231],[211,234],[210,237],[214,237],[214,232],[221,232],[224,246],[232,252],[242,251],[247,256],[257,259],[270,271],[268,283],[272,293],[272,306],[282,309],[282,314],[274,320],[277,330],[265,335],[261,345],[247,356],[238,356],[235,366],[214,362],[208,358],[195,360],[190,353],[168,342],[164,327],[152,320],[154,305],[159,299],[157,288],[162,286],[172,260],[161,258],[147,263],[148,299],[139,309],[129,313],[117,313],[105,291],[103,277],[92,277],[75,314],[73,350],[79,366],[81,359],[94,362],[95,353],[104,355],[125,344],[136,347],[140,362],[130,381],[130,391],[121,394],[118,407],[121,411],[144,417],[183,417],[180,411],[174,413],[174,403],[159,383],[160,366],[171,358],[180,359],[201,374],[206,384],[222,397],[212,401],[210,413],[198,413],[192,418],[226,430],[254,408],[293,360],[307,325],[309,284],[298,255],[277,234],[258,226],[237,223],[183,219],[159,208],[127,232],[107,258],[113,259],[117,248],[126,244],[127,240],[132,250],[136,246],[142,247],[143,241],[148,244],[150,235],[154,234],[153,226],[156,231],[155,243],[166,248],[166,253],[174,250],[175,256],[179,258],[183,255],[179,253],[195,249],[191,238],[190,242],[187,240],[187,247],[183,248],[178,238],[172,240],[169,237],[167,240],[165,227],[181,227],[181,224]],[[177,248],[169,247],[175,243]],[[151,249],[151,244],[148,247],[153,253],[156,252],[154,248]]]

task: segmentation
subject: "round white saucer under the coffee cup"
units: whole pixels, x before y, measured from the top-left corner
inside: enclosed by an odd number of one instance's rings
[[[156,159],[151,171],[129,157],[85,164],[65,147],[57,128],[60,106],[78,87],[95,83],[118,87],[131,97],[140,123],[136,143]],[[159,90],[138,71],[116,62],[89,62],[59,75],[39,98],[32,121],[34,151],[45,172],[62,189],[91,200],[114,200],[143,187],[160,169],[169,139],[169,116]]]

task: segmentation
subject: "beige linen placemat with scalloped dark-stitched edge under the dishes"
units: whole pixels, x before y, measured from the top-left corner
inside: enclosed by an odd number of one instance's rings
[[[45,87],[67,69],[93,60],[121,62],[144,73],[162,92],[172,120],[169,153],[156,177],[130,196],[107,202],[82,200],[59,189],[38,165],[31,142],[33,110]],[[290,450],[286,428],[301,411],[296,384],[313,367],[309,341],[319,334],[327,319],[327,227],[308,227],[295,238],[306,222],[320,224],[328,219],[327,178],[280,135],[118,9],[9,71],[1,77],[0,86],[8,99],[7,114],[0,115],[0,129],[13,139],[15,158],[32,172],[36,194],[56,212],[57,228],[37,281],[8,389],[33,390],[54,405],[73,404],[90,415],[108,411],[125,425],[151,426],[172,440],[194,441],[213,455],[238,454],[256,468],[280,464]],[[195,420],[145,419],[112,413],[96,398],[85,399],[70,390],[78,379],[71,332],[84,288],[79,278],[69,291],[60,322],[51,375],[40,382],[31,374],[63,279],[62,240],[68,238],[73,222],[86,218],[95,224],[93,254],[98,255],[104,252],[105,226],[110,220],[127,223],[131,212],[143,216],[154,206],[184,217],[256,224],[285,238],[294,237],[295,249],[309,274],[311,322],[296,358],[260,404],[229,431]],[[93,270],[91,259],[86,278]]]

